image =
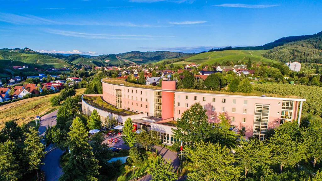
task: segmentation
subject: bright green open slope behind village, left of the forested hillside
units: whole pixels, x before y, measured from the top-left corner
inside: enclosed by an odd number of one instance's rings
[[[214,62],[223,62],[223,61],[244,61],[247,62],[250,58],[252,62],[276,62],[274,60],[267,59],[262,56],[262,53],[267,52],[268,50],[256,50],[256,51],[246,51],[246,50],[225,50],[218,52],[205,52],[196,55],[189,55],[185,57],[181,57],[185,59],[185,61],[174,62],[176,65],[183,65],[189,63],[198,63],[198,64],[213,64]],[[176,59],[166,59],[166,60],[177,60]],[[163,60],[163,61],[166,61]],[[160,61],[162,62],[162,61]],[[160,63],[157,62],[157,63]]]

